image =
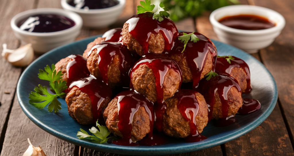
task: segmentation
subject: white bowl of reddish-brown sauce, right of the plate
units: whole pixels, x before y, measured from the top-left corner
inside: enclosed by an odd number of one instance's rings
[[[221,42],[251,54],[272,44],[285,27],[285,19],[278,12],[250,5],[216,9],[209,20]]]

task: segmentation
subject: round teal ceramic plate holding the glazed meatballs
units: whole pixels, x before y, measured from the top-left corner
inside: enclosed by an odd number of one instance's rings
[[[58,113],[50,113],[46,108],[37,109],[29,104],[29,93],[33,91],[34,87],[38,84],[48,85],[48,82],[40,80],[37,77],[39,69],[44,69],[47,64],[55,64],[60,59],[71,54],[82,54],[87,44],[96,37],[97,36],[93,36],[64,45],[42,55],[26,68],[17,85],[19,104],[29,119],[41,129],[67,142],[103,152],[128,155],[163,155],[191,152],[220,145],[253,130],[270,115],[277,102],[278,92],[275,80],[262,63],[240,49],[218,41],[213,41],[217,47],[218,55],[234,55],[247,62],[250,68],[251,84],[253,86],[252,92],[247,96],[260,101],[262,105],[260,110],[245,116],[236,115],[238,124],[227,127],[214,127],[212,123],[208,123],[202,133],[207,139],[195,143],[175,140],[174,142],[168,142],[159,146],[129,147],[108,143],[96,144],[79,140],[76,137],[77,131],[80,128],[87,130],[91,126],[80,125],[78,122],[74,121],[67,112],[67,105],[64,99],[59,98],[62,109]]]

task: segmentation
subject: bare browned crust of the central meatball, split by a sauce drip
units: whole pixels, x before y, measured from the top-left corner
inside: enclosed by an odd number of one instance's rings
[[[134,89],[139,93],[145,95],[147,99],[152,102],[156,102],[156,81],[155,76],[146,64],[142,64],[133,72],[133,78],[131,79]],[[180,75],[173,69],[168,69],[163,80],[163,100],[172,97],[173,94],[180,87]]]

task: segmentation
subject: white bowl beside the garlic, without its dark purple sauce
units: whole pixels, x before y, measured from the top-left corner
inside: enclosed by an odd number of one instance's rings
[[[19,27],[17,26],[19,21],[29,16],[34,16],[36,14],[63,15],[73,20],[75,22],[75,25],[69,29],[44,33],[29,32],[19,29]],[[74,41],[78,34],[80,34],[82,25],[83,20],[81,16],[79,16],[78,14],[70,11],[64,11],[63,9],[55,8],[40,8],[27,10],[15,15],[10,21],[10,26],[14,31],[16,37],[21,39],[25,43],[31,43],[34,51],[39,54],[44,54],[45,52],[48,52],[51,49]]]

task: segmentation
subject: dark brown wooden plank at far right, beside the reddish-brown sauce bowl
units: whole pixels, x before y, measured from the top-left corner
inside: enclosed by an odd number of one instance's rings
[[[294,45],[293,45],[293,0],[258,1],[255,5],[278,11],[286,19],[286,26],[280,36],[269,47],[260,50],[263,63],[270,70],[278,86],[279,101],[284,120],[294,148]]]

